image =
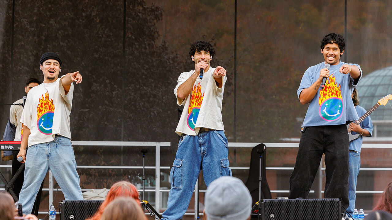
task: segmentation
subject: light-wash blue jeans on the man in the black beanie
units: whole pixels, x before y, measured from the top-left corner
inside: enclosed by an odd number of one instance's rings
[[[29,147],[25,166],[24,182],[19,196],[24,214],[31,213],[42,180],[49,170],[52,171],[66,200],[83,200],[73,146],[69,138],[56,136],[54,141]]]

